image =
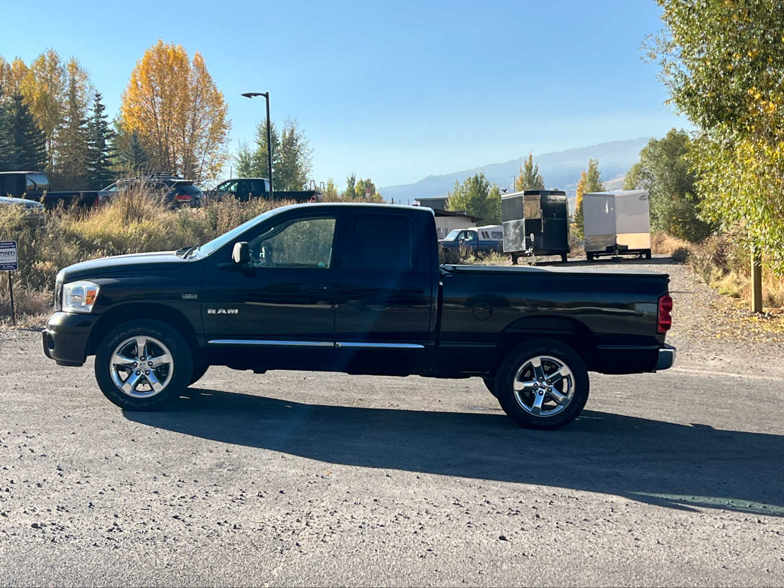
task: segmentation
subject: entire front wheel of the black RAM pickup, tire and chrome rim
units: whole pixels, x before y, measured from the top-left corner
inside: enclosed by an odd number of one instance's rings
[[[96,351],[103,395],[125,410],[161,408],[185,390],[194,373],[191,347],[162,321],[140,319],[112,329]]]

